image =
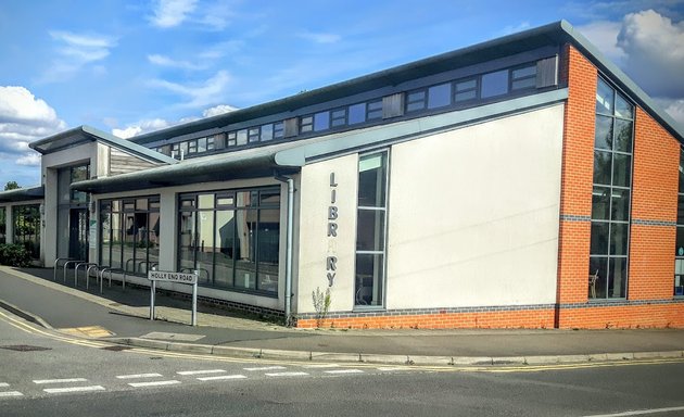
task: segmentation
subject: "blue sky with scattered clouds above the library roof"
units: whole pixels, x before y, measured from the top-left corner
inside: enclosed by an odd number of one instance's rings
[[[27,143],[122,137],[245,108],[565,18],[684,125],[684,0],[2,0],[0,187]]]

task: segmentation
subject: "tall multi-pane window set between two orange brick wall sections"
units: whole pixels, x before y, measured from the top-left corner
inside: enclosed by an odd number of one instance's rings
[[[626,296],[632,187],[633,106],[598,79],[588,295]]]

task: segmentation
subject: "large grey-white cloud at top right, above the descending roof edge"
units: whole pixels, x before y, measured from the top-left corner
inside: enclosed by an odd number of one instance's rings
[[[618,46],[628,74],[651,96],[684,96],[684,21],[674,23],[653,10],[630,13]]]

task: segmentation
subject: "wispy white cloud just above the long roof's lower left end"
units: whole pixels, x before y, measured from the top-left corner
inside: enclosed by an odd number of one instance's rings
[[[227,71],[221,70],[212,78],[192,86],[185,86],[164,79],[153,79],[149,85],[186,97],[188,101],[181,104],[183,108],[202,108],[221,101],[229,83],[230,75],[228,75]]]

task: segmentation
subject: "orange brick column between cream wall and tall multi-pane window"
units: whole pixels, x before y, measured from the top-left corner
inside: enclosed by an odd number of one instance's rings
[[[567,76],[568,101],[558,232],[557,302],[561,304],[586,302],[588,296],[591,224],[574,222],[568,216],[586,219],[592,215],[597,77],[596,68],[573,47],[566,46],[563,55],[561,72]]]

